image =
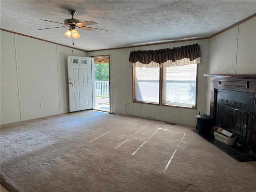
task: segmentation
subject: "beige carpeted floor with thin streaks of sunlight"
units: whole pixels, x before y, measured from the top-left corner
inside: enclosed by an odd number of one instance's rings
[[[237,162],[191,126],[126,115],[56,115],[1,126],[1,184],[12,192],[253,192]]]

